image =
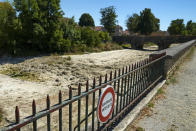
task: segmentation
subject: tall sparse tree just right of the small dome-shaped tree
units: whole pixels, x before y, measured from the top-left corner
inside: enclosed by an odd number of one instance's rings
[[[116,9],[114,6],[110,6],[107,8],[102,8],[100,10],[101,13],[101,24],[104,26],[104,28],[112,35],[115,32],[116,28]]]

